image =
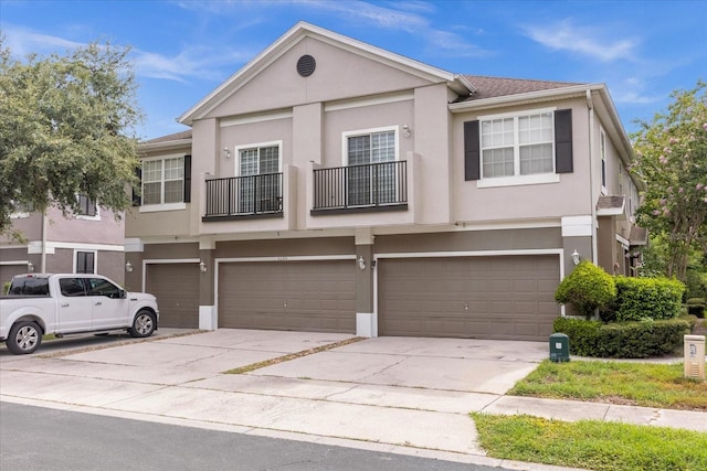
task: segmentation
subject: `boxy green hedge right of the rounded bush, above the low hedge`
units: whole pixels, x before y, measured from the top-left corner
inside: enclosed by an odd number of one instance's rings
[[[618,322],[674,319],[680,313],[685,285],[667,278],[616,277],[612,306]]]

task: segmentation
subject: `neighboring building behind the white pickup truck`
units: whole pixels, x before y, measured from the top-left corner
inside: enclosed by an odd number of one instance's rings
[[[0,237],[0,282],[29,271],[98,274],[124,282],[124,220],[77,197],[81,213],[73,216],[64,217],[57,208],[46,215],[18,210],[11,216],[12,228],[22,232],[27,244]]]

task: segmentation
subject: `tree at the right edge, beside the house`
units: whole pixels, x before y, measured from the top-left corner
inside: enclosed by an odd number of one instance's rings
[[[676,90],[665,113],[639,121],[630,171],[646,190],[639,224],[667,245],[666,275],[685,281],[690,249],[707,249],[707,84]]]

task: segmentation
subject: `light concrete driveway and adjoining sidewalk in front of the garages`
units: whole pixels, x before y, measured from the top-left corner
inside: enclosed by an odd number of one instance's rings
[[[2,349],[0,400],[527,470],[558,468],[485,457],[468,413],[707,432],[707,413],[505,396],[548,356],[545,342],[377,338],[223,373],[350,339],[160,329],[28,356]]]

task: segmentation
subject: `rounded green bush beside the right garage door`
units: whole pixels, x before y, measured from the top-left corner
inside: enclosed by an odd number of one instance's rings
[[[597,308],[609,306],[616,296],[614,280],[589,260],[582,260],[555,291],[555,300],[570,303],[588,320]]]

